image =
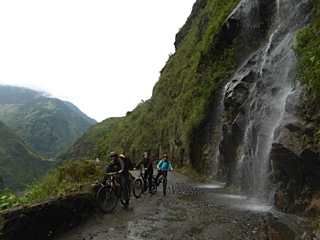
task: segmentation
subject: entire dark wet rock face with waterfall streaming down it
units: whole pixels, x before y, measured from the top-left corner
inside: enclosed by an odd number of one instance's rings
[[[227,184],[264,198],[263,192],[271,193],[275,186],[276,205],[300,213],[306,208],[314,212],[308,207],[310,193],[319,190],[315,183],[320,180],[319,150],[313,142],[319,126],[307,120],[301,97],[305,90],[292,89],[297,60],[290,46],[310,10],[308,1],[288,1],[278,9],[271,1],[241,1],[230,15],[237,22],[234,32],[248,42],[241,48],[246,59],[225,88],[219,148],[220,177]],[[273,25],[272,18],[277,19]],[[268,31],[258,31],[254,39],[241,22],[251,30],[263,25]],[[255,46],[254,40],[263,44]]]

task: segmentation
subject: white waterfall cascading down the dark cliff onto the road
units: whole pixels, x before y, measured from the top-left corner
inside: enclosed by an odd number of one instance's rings
[[[250,13],[246,19],[257,20],[256,16],[262,14],[261,5],[266,4],[262,2],[241,2],[242,14]],[[292,93],[295,56],[291,46],[296,31],[305,24],[304,3],[295,0],[273,3],[269,17],[274,21],[269,24],[269,34],[265,34],[265,45],[248,57],[227,84],[225,107],[232,107],[235,114],[223,126],[220,148],[232,146],[234,154],[222,150],[220,158],[227,165],[228,183],[240,185],[259,199],[269,200],[272,193],[270,150],[275,129],[285,112],[286,99]],[[243,31],[250,34],[245,28]],[[252,30],[251,34],[254,34]]]

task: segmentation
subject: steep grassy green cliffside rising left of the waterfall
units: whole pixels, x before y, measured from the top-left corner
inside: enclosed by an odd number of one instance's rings
[[[151,99],[100,138],[95,157],[104,157],[111,150],[125,151],[133,160],[144,151],[154,159],[167,153],[176,167],[204,169],[202,149],[191,159],[190,145],[201,139],[199,129],[208,120],[217,90],[236,65],[233,43],[218,43],[218,39],[237,3],[198,0],[194,4],[176,35],[176,52],[161,70]],[[217,44],[223,50],[213,50]]]

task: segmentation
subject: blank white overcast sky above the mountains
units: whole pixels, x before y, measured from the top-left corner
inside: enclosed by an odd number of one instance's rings
[[[102,121],[152,95],[196,0],[2,0],[0,84]]]

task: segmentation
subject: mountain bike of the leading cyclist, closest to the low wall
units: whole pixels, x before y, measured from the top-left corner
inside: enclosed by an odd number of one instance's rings
[[[114,175],[118,174],[118,172],[110,172],[106,174],[110,176],[110,180],[106,184],[103,184],[102,182],[97,180],[97,183],[100,184],[101,187],[97,192],[96,202],[97,202],[98,208],[103,213],[110,213],[117,206],[118,199],[120,199],[120,202],[123,205],[125,204],[125,200],[123,200],[121,196],[120,183],[114,178]],[[130,199],[129,182],[126,187],[128,188],[128,195]]]

